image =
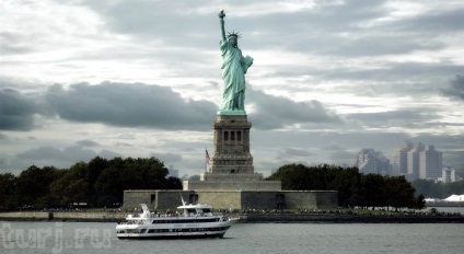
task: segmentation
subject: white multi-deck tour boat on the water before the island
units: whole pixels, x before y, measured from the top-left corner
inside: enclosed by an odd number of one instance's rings
[[[142,213],[129,215],[126,222],[116,226],[118,239],[184,239],[184,238],[222,238],[225,231],[239,220],[227,216],[216,216],[209,205],[197,204],[177,207],[171,213],[150,212],[141,204]]]

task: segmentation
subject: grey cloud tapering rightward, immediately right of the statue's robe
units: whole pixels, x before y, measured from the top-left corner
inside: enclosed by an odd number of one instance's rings
[[[250,113],[254,127],[278,129],[295,124],[341,124],[336,114],[329,112],[318,101],[294,102],[283,96],[274,96],[262,91],[247,90],[248,105],[255,109]]]

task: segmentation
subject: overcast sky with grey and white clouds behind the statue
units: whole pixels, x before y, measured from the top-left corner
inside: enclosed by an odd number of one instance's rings
[[[464,165],[462,0],[2,0],[0,173],[155,157],[205,171],[218,12],[254,65],[255,171],[433,145]]]

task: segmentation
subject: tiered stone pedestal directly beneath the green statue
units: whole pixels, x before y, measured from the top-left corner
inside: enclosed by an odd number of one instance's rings
[[[280,181],[263,181],[255,173],[250,153],[250,129],[252,123],[244,112],[218,113],[213,128],[214,152],[211,170],[200,175],[200,181],[184,181],[184,190],[280,190]]]

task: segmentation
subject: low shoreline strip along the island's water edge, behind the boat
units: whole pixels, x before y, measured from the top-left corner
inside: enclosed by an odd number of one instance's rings
[[[0,212],[0,221],[72,221],[118,222],[128,212],[62,212],[16,211]],[[462,213],[450,212],[385,212],[370,210],[329,210],[311,212],[241,212],[227,213],[240,217],[242,223],[464,223]]]

